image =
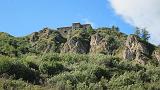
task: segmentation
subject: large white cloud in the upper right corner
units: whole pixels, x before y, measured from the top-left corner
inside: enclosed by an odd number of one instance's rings
[[[109,0],[115,12],[133,26],[145,27],[160,44],[160,0]]]

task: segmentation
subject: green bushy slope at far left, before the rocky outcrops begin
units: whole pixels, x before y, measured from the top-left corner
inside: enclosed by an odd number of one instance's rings
[[[29,52],[29,44],[25,38],[16,38],[7,33],[0,32],[0,54],[6,56],[19,56]]]

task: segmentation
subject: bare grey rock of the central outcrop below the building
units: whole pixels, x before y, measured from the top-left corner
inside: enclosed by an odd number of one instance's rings
[[[89,51],[89,42],[81,40],[80,38],[73,37],[69,39],[61,49],[62,53],[88,53]]]

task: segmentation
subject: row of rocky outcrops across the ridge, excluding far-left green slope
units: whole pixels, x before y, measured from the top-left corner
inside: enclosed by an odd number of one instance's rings
[[[96,32],[90,36],[87,36],[86,33],[79,33],[67,40],[60,33],[45,28],[30,35],[29,42],[32,44],[31,47],[39,52],[101,53],[116,55],[126,60],[135,60],[142,64],[152,58],[160,62],[160,50],[154,50],[152,47],[155,46],[142,41],[136,35],[129,35],[120,40],[116,35],[106,33]]]

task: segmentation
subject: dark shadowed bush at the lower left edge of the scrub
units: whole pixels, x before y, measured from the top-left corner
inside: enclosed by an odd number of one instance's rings
[[[0,75],[8,74],[12,76],[14,79],[22,78],[25,81],[31,83],[38,83],[40,76],[38,72],[31,70],[26,67],[24,64],[14,61],[8,60],[10,58],[1,58],[0,60]]]

